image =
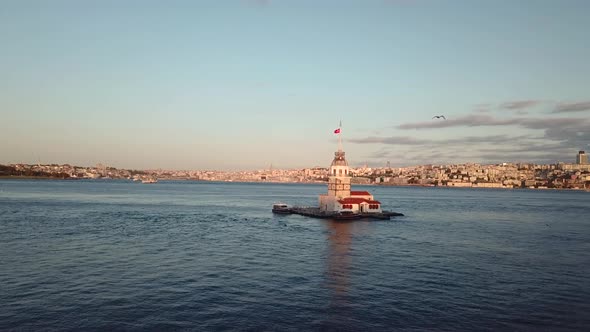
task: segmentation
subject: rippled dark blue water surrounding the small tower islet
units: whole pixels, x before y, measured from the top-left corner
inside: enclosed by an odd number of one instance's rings
[[[356,189],[406,216],[270,212],[325,185],[0,180],[0,330],[589,329],[590,193]]]

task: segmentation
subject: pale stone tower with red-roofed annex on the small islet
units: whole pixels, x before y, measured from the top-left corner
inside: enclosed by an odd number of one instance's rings
[[[376,201],[368,191],[350,190],[351,174],[345,153],[342,151],[340,129],[334,132],[338,134],[338,151],[334,153],[329,169],[328,193],[319,196],[320,211],[381,213],[381,203]]]

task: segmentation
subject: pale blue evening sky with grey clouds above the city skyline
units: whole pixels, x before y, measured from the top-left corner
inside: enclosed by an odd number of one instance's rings
[[[590,1],[0,0],[0,163],[575,162]],[[443,118],[433,118],[444,115]]]

